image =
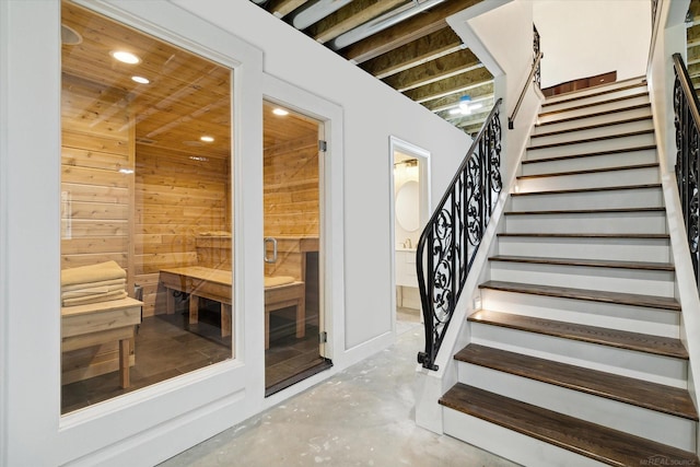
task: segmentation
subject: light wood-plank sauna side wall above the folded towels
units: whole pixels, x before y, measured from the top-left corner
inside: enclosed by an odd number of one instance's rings
[[[127,269],[132,292],[135,155],[128,95],[69,74],[62,86],[61,269],[115,260]]]

